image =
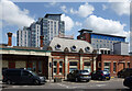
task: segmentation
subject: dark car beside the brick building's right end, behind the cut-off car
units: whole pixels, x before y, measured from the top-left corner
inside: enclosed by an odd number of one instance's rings
[[[125,78],[132,76],[132,68],[124,68],[118,72],[118,78]]]

